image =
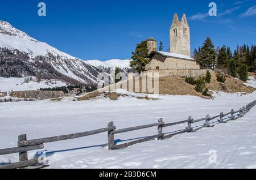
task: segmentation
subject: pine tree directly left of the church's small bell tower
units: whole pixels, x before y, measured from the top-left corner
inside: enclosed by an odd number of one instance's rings
[[[148,64],[148,48],[147,42],[142,41],[139,43],[135,49],[135,52],[132,52],[133,56],[131,57],[133,61],[130,62],[131,68],[133,70],[141,73],[145,70],[145,66]]]

